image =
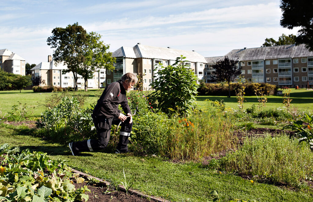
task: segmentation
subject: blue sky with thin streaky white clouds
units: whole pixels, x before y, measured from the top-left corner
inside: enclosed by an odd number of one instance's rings
[[[195,50],[204,57],[255,48],[297,29],[280,27],[279,0],[10,0],[0,7],[0,49],[46,62],[52,29],[78,22],[114,52],[137,43]]]

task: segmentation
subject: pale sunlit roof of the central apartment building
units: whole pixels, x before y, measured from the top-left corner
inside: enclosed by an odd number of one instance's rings
[[[186,57],[186,60],[190,62],[207,63],[205,58],[197,52],[179,50],[174,48],[162,48],[155,46],[146,46],[137,44],[133,48],[121,47],[113,52],[114,57],[126,57],[126,58],[156,58],[164,60],[176,60],[181,55]]]

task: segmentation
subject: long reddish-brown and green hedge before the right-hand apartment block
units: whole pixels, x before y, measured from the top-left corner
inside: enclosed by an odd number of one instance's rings
[[[255,95],[255,90],[262,88],[266,95],[274,95],[277,87],[269,83],[230,83],[230,94],[236,96],[236,90],[245,87],[245,96]],[[198,88],[200,95],[227,96],[228,84],[223,83],[201,83]]]

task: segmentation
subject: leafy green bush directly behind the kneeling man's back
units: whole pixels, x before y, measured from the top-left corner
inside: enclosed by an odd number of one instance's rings
[[[82,109],[77,98],[61,98],[58,105],[41,114],[37,134],[60,143],[95,138],[92,109]]]

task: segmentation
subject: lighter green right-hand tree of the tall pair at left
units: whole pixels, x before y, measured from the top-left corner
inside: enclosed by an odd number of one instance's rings
[[[87,42],[83,48],[85,60],[77,69],[77,73],[85,79],[85,91],[88,89],[88,78],[93,77],[93,73],[97,68],[105,68],[113,70],[113,63],[116,58],[112,57],[111,52],[107,52],[110,48],[100,41],[101,35],[95,32],[87,34]]]

